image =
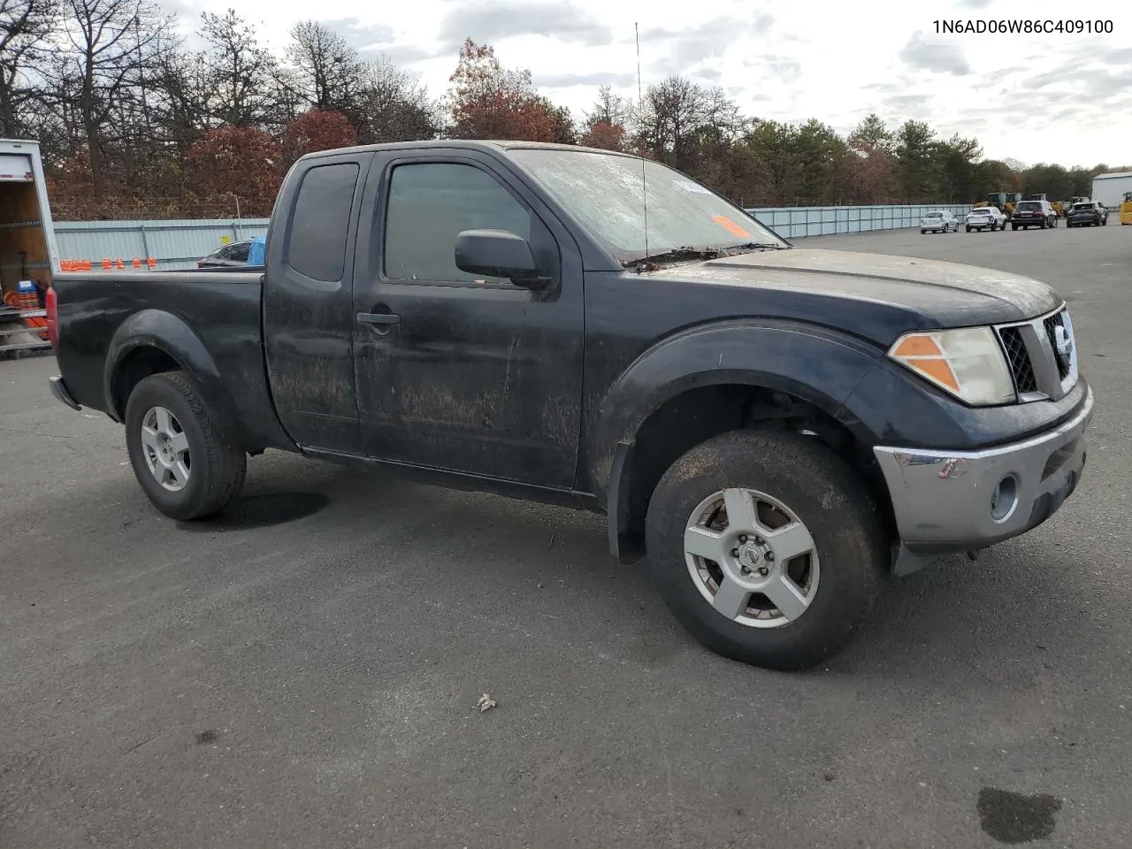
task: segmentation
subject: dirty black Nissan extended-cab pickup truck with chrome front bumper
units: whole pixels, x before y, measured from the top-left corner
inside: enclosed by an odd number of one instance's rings
[[[248,271],[60,274],[74,409],[158,511],[267,448],[608,517],[713,651],[804,669],[885,576],[1048,518],[1092,392],[1043,283],[797,248],[651,161],[431,142],[309,155]]]

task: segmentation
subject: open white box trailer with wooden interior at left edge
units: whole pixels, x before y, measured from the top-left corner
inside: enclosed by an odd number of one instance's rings
[[[0,352],[50,350],[44,309],[59,250],[40,144],[0,139]]]

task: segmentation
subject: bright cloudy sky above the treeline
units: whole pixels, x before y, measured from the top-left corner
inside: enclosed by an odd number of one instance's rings
[[[172,0],[182,26],[231,0]],[[950,136],[977,136],[988,157],[1132,164],[1132,2],[1125,0],[240,0],[282,48],[297,20],[332,24],[363,55],[386,53],[434,95],[466,36],[576,117],[599,85],[636,96],[634,23],[644,85],[683,75],[723,87],[747,113],[818,118],[850,129],[876,111]],[[945,34],[940,20],[1112,22],[1112,34]]]

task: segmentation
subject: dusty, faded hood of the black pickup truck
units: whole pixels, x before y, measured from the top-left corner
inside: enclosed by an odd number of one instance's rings
[[[689,283],[773,291],[805,301],[840,299],[885,314],[893,326],[902,325],[906,331],[1021,321],[1062,303],[1048,285],[1019,274],[846,250],[756,251],[668,273]],[[857,309],[850,311],[859,315]]]

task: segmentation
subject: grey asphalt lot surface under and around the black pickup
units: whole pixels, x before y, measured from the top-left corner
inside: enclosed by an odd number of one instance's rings
[[[796,243],[1054,284],[1098,396],[1056,516],[805,675],[700,648],[598,516],[268,453],[179,525],[0,362],[0,847],[1124,849],[1132,226]]]

